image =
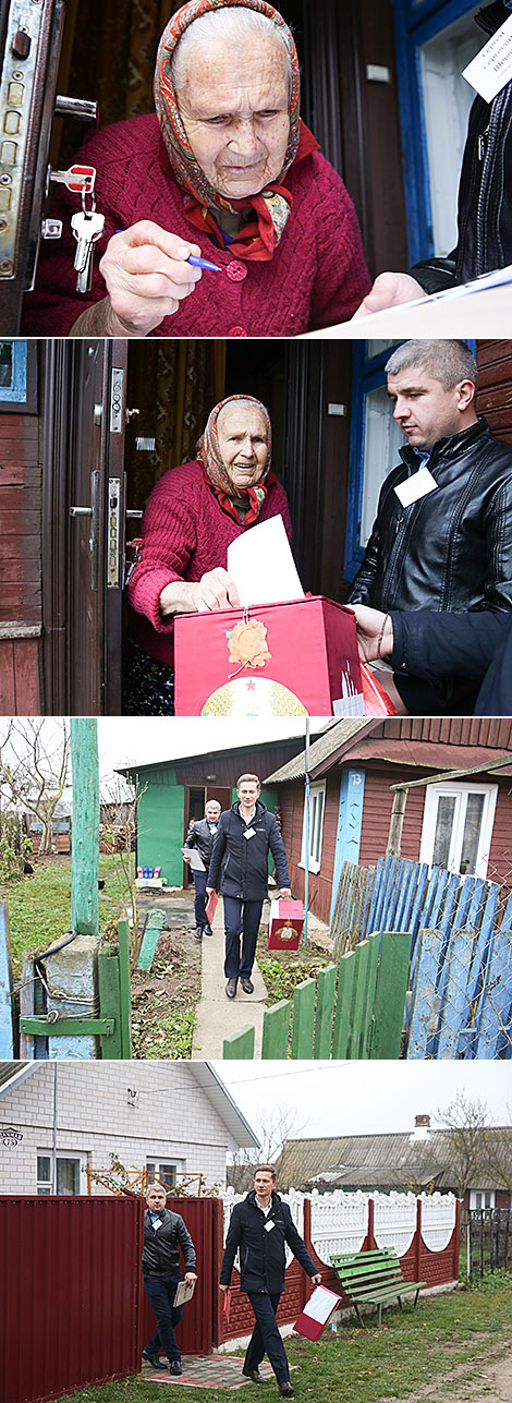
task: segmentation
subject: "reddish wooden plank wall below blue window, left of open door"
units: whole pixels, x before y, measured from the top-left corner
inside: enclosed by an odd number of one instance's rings
[[[36,414],[0,414],[0,711],[41,709],[42,446]]]

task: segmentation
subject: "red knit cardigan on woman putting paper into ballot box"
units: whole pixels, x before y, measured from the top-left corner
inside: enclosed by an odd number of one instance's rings
[[[286,492],[281,483],[271,483],[258,521],[279,513],[290,537]],[[173,467],[160,478],[144,511],[142,560],[128,591],[132,629],[144,652],[173,662],[174,617],[163,619],[160,613],[164,585],[173,579],[201,579],[216,565],[226,570],[227,547],[243,533],[244,528],[220,506],[201,463]]]

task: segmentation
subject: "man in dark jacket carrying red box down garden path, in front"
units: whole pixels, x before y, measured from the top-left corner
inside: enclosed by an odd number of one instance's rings
[[[275,861],[279,897],[290,895],[285,845],[279,828],[258,798],[257,774],[241,774],[238,800],[220,814],[206,891],[220,891],[224,901],[226,993],[234,999],[240,978],[244,993],[254,993],[251,972],[261,908],[268,897],[268,853]],[[240,955],[240,934],[241,955]]]

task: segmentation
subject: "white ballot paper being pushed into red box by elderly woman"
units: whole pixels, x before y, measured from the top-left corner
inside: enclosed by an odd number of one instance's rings
[[[227,574],[241,605],[283,605],[303,599],[282,516],[258,522],[227,547]]]

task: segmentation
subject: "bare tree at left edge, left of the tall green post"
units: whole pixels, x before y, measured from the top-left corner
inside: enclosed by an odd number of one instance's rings
[[[39,853],[52,852],[55,811],[69,783],[66,721],[13,717],[0,732],[1,801],[4,807],[32,814],[39,821]]]

